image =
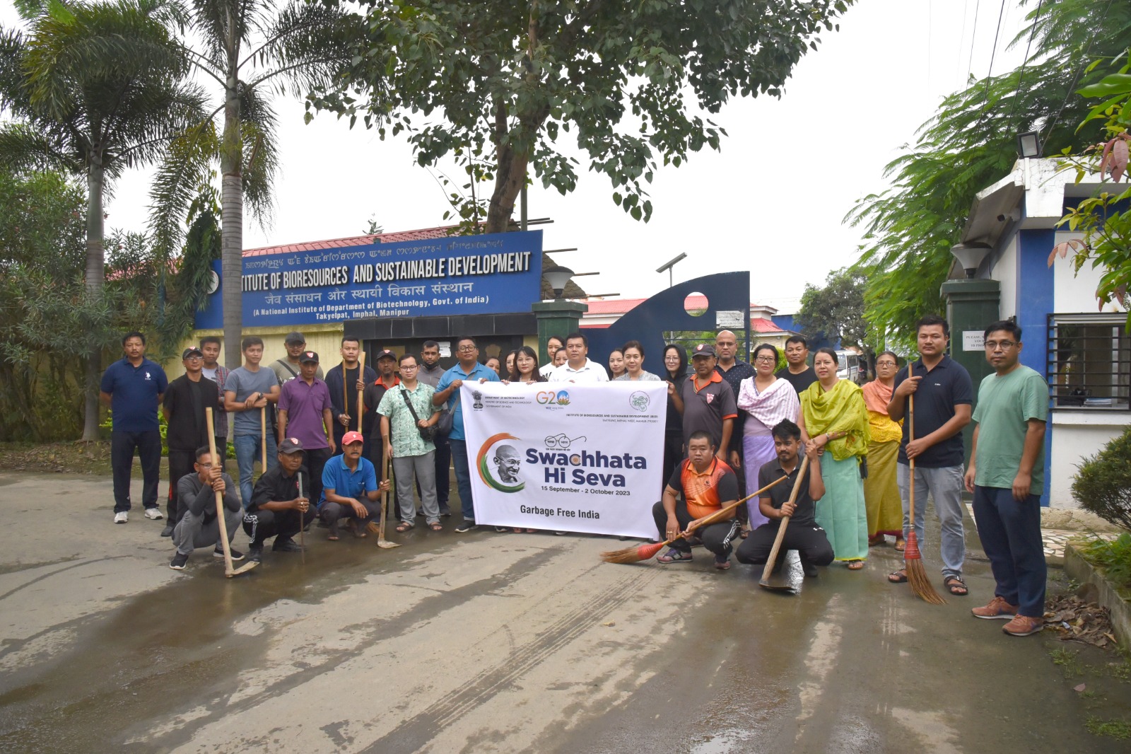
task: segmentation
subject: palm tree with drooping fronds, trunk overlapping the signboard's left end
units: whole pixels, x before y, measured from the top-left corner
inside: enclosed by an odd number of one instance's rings
[[[347,60],[349,29],[336,8],[291,0],[188,0],[192,38],[189,60],[223,93],[211,117],[180,138],[152,190],[152,226],[158,247],[175,247],[185,208],[221,172],[224,361],[240,365],[243,202],[266,222],[278,166],[275,112],[268,94],[309,92],[329,83]],[[218,119],[218,123],[214,122]],[[250,145],[245,151],[244,146]]]

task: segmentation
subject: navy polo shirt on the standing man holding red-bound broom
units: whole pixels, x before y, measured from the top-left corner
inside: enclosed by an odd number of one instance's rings
[[[896,375],[895,387],[907,379],[908,367],[914,369],[916,377],[923,377],[915,391],[915,437],[926,437],[950,421],[956,405],[974,403],[970,372],[949,355],[943,355],[931,371],[923,366],[922,359],[907,365]],[[907,399],[904,399],[904,439],[899,443],[899,463],[907,463],[907,443],[910,440],[912,422],[908,421],[907,406]],[[962,432],[956,432],[953,437],[935,443],[915,456],[915,465],[944,469],[961,465],[965,460]]]

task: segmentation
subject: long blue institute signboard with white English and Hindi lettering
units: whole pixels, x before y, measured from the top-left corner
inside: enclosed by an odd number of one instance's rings
[[[245,327],[527,312],[542,299],[542,231],[245,256],[241,282]],[[223,326],[219,290],[196,325]]]

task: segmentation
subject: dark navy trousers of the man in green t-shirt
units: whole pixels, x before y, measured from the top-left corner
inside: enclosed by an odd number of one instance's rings
[[[990,558],[994,597],[1018,607],[1017,614],[1045,614],[1045,546],[1041,539],[1041,496],[1013,499],[1013,490],[974,488],[974,519],[982,549]]]

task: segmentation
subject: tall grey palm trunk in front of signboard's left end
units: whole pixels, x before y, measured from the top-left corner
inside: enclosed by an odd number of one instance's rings
[[[243,337],[243,135],[240,131],[240,95],[235,60],[235,55],[228,57],[224,140],[219,153],[221,271],[223,272],[221,299],[224,305],[224,366],[228,369],[235,369],[242,362],[240,340]]]

